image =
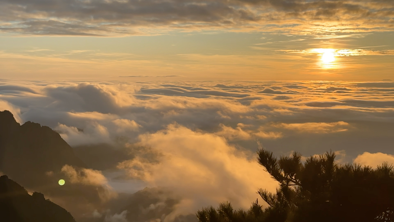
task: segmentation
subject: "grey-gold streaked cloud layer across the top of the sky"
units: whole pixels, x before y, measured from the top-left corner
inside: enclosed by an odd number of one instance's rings
[[[380,0],[2,0],[0,6],[2,32],[72,36],[178,29],[286,30],[333,38],[331,33],[392,31],[394,16],[392,2]]]

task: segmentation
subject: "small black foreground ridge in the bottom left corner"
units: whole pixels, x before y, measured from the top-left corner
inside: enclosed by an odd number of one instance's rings
[[[6,175],[0,177],[0,221],[75,222],[69,212],[34,192],[32,196]]]

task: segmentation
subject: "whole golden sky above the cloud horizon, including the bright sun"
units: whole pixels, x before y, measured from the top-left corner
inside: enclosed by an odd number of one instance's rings
[[[391,0],[1,0],[3,78],[393,79]]]

